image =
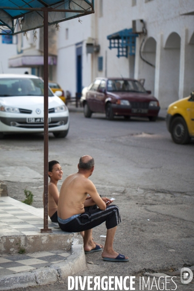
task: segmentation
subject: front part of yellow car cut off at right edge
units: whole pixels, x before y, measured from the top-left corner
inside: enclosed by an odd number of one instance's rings
[[[194,92],[168,106],[166,125],[176,144],[188,144],[194,138]]]

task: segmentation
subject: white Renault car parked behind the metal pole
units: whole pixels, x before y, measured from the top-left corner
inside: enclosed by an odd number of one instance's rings
[[[65,137],[69,112],[49,89],[49,132]],[[44,132],[44,83],[34,75],[0,74],[0,138],[8,133]]]

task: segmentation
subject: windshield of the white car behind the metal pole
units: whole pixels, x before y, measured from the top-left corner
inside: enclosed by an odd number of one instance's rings
[[[0,97],[10,96],[44,96],[44,82],[30,78],[0,79]],[[53,93],[49,89],[51,96]]]

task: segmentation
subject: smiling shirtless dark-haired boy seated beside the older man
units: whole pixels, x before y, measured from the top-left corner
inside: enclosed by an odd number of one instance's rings
[[[57,183],[63,177],[62,168],[57,161],[49,162],[49,217],[52,222],[58,222],[57,205],[59,199],[59,190]],[[44,196],[43,196],[44,197]]]

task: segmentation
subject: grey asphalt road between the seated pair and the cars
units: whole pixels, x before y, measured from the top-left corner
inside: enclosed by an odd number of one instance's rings
[[[49,160],[61,163],[65,178],[77,171],[85,154],[95,159],[91,180],[98,192],[114,197],[120,208],[114,248],[128,255],[129,262],[104,262],[99,252],[89,254],[87,270],[78,275],[136,275],[138,281],[146,271],[194,265],[194,142],[174,144],[162,120],[107,121],[103,114],[84,118],[70,113],[67,137],[49,134]],[[42,208],[43,135],[6,137],[0,157],[0,180],[7,180],[9,196],[22,200],[23,190],[30,190],[32,206]],[[106,235],[104,225],[93,231],[95,240],[104,243],[100,235]],[[182,285],[179,278],[177,284],[178,291],[193,290],[192,283]],[[38,290],[67,290],[67,282]]]

